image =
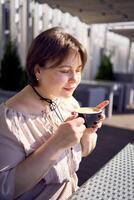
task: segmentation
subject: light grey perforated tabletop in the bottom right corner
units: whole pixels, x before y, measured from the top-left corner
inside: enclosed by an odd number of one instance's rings
[[[69,200],[133,200],[134,144],[126,145]]]

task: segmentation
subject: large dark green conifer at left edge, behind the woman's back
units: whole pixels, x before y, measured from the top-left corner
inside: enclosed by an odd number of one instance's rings
[[[26,75],[21,67],[17,47],[9,41],[1,60],[0,86],[4,90],[19,91],[26,83]]]

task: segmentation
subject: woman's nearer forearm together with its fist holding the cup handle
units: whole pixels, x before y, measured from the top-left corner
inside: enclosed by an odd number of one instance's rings
[[[83,118],[67,121],[45,144],[22,161],[16,167],[15,197],[36,185],[66,148],[80,143],[84,130]]]

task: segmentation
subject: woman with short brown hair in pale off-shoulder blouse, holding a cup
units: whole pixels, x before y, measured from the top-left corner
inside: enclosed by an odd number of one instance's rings
[[[67,199],[96,131],[78,117],[72,94],[86,63],[84,47],[62,28],[42,32],[28,51],[29,84],[0,106],[0,199]],[[104,108],[108,101],[98,105]]]

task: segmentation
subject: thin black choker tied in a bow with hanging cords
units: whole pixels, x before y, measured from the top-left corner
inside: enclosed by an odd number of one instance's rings
[[[40,100],[46,101],[47,103],[49,103],[50,110],[51,110],[51,111],[55,111],[55,113],[56,113],[56,115],[58,116],[58,118],[63,122],[64,119],[63,119],[63,117],[62,117],[62,114],[61,114],[61,112],[60,112],[60,110],[59,110],[59,108],[58,108],[56,102],[53,101],[53,100],[51,100],[51,99],[48,99],[48,98],[46,98],[46,97],[41,96],[41,95],[37,92],[37,90],[36,90],[32,85],[31,85],[31,87],[32,87],[33,91],[37,94],[37,96],[40,97]],[[57,109],[57,110],[56,110],[56,109]],[[57,111],[58,111],[58,112],[57,112]]]

